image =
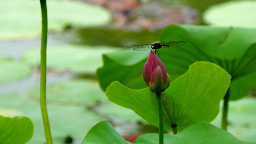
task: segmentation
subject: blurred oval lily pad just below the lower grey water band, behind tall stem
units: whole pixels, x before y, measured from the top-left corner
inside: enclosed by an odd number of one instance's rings
[[[29,96],[39,99],[39,86],[28,90]],[[47,101],[67,104],[95,104],[107,97],[94,80],[70,80],[49,84],[46,87]]]

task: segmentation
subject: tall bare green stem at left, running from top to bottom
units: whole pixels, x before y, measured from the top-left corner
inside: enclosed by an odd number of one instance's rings
[[[40,73],[40,107],[43,118],[43,127],[47,144],[52,144],[51,129],[49,125],[46,107],[46,46],[47,46],[47,5],[46,0],[40,0],[42,12],[42,36],[41,36],[41,73]]]

